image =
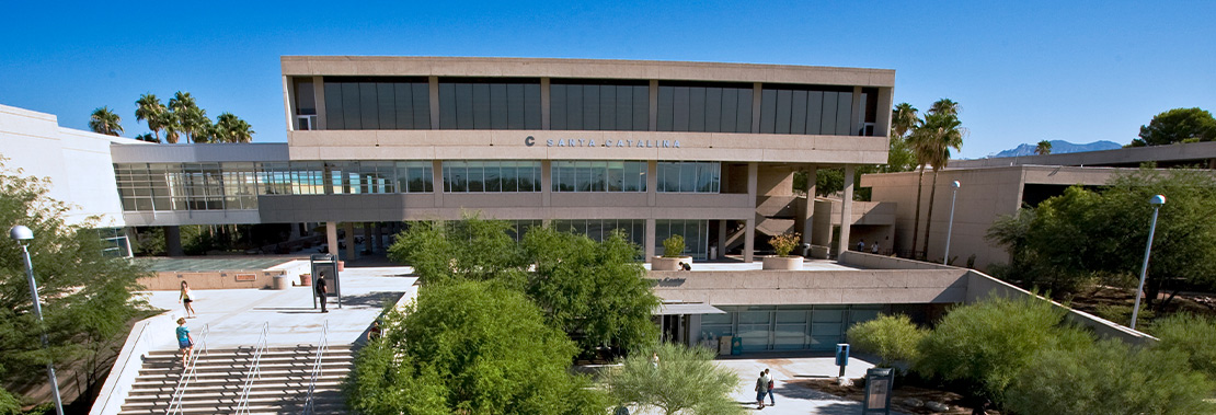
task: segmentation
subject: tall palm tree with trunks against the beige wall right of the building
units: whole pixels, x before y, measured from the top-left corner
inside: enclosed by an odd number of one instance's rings
[[[946,164],[950,163],[950,148],[962,148],[964,135],[967,135],[967,130],[962,128],[962,122],[958,120],[958,103],[948,99],[934,102],[929,113],[924,117],[924,123],[917,127],[916,131],[912,133],[913,148],[917,148],[917,155],[923,156],[923,159],[933,166],[933,185],[929,187],[929,212],[927,213],[924,223],[924,245],[923,248],[921,248],[922,256],[928,256],[929,253],[929,234],[933,228],[933,206],[934,198],[936,198],[938,195],[938,173],[946,168]],[[922,157],[918,157],[918,159],[919,158]],[[924,174],[923,164],[921,173],[922,175]],[[917,202],[919,202],[919,197],[917,198]],[[919,218],[917,218],[917,221],[919,223]],[[916,247],[916,234],[912,236],[912,246]]]

